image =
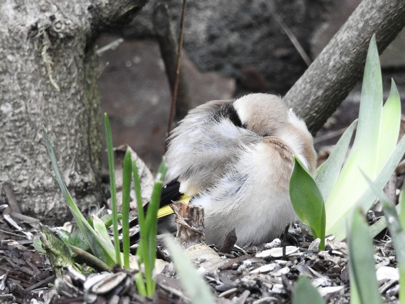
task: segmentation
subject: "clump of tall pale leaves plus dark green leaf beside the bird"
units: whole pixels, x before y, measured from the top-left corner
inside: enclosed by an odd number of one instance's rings
[[[391,91],[383,106],[381,68],[373,35],[367,53],[358,121],[349,126],[328,160],[316,170],[316,183],[311,183],[306,190],[301,189],[301,195],[294,187],[300,189],[298,183],[301,180],[309,180],[306,176],[308,173],[302,166],[298,170],[299,163],[295,162],[294,170],[296,167],[297,170],[293,172],[290,182],[291,201],[295,209],[300,209],[299,212],[296,210],[297,216],[309,225],[314,237],[332,234],[337,240],[345,239],[345,223],[351,218],[355,208],[371,208],[377,196],[360,170],[365,172],[380,190],[384,187],[405,153],[405,138],[397,144],[400,113],[400,99],[394,81],[391,82]],[[345,161],[356,124],[353,146]],[[325,202],[325,232],[314,231],[314,227],[319,230],[324,221],[320,216],[322,211],[319,192]],[[405,211],[403,216],[405,217]],[[311,219],[311,222],[308,222],[308,219]],[[314,220],[319,222],[314,223]],[[374,231],[381,231],[383,226],[384,222],[378,222]]]

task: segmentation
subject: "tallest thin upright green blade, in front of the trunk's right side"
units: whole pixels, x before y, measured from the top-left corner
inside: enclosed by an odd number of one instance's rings
[[[117,209],[117,196],[115,187],[115,173],[114,173],[114,154],[112,150],[112,136],[110,121],[108,120],[107,113],[104,113],[104,126],[105,126],[105,139],[107,143],[107,155],[108,155],[108,168],[110,172],[110,188],[111,188],[111,209],[112,209],[112,230],[114,233],[114,248],[115,248],[115,260],[122,266],[120,251],[119,251],[119,239],[118,239],[118,209]]]

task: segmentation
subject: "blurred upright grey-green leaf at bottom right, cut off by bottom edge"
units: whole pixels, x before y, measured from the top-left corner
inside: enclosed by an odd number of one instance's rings
[[[351,303],[382,304],[369,226],[357,210],[348,233]]]

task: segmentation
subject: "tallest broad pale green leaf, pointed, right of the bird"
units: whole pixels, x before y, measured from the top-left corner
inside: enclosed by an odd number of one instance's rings
[[[373,35],[367,53],[361,89],[359,118],[356,136],[350,154],[326,203],[326,231],[345,236],[345,214],[351,212],[356,201],[368,188],[359,169],[373,179],[377,175],[379,162],[379,140],[382,117],[382,81],[376,39]],[[386,160],[386,159],[385,159]],[[343,220],[338,232],[331,227]],[[341,238],[337,237],[338,240]]]

